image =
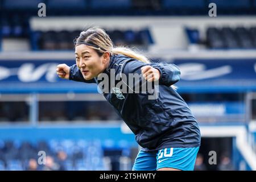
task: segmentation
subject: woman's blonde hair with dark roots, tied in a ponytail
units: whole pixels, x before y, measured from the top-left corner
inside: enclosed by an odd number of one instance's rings
[[[150,63],[146,56],[138,53],[137,51],[128,47],[114,47],[113,42],[104,29],[99,27],[92,27],[80,33],[79,38],[76,39],[75,46],[86,44],[90,48],[96,50],[99,56],[102,56],[105,51],[110,52],[112,55],[125,55],[133,59]],[[171,85],[173,89],[177,89],[175,85]]]

